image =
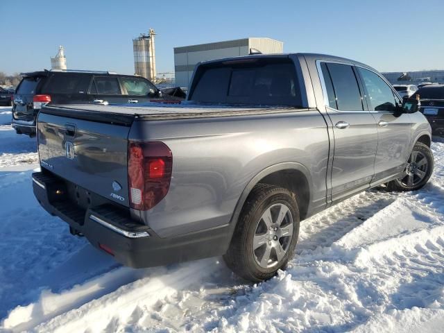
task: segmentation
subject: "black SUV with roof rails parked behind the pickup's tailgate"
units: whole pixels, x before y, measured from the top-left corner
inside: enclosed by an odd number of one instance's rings
[[[22,74],[12,105],[12,127],[35,135],[39,110],[53,104],[122,104],[159,101],[162,93],[142,76],[108,71],[34,71]]]

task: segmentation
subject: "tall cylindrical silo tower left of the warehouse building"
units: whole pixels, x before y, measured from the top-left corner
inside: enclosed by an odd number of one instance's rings
[[[134,72],[155,82],[155,32],[150,29],[148,34],[140,34],[133,39]]]

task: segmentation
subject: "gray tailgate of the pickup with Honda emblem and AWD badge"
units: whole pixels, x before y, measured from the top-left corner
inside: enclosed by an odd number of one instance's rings
[[[40,164],[87,191],[129,206],[127,121],[43,109],[37,119]]]

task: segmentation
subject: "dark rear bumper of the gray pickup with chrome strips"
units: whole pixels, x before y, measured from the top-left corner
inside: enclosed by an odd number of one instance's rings
[[[228,226],[178,237],[160,238],[146,225],[131,220],[115,205],[82,209],[71,201],[55,198],[62,189],[60,178],[33,173],[34,195],[44,209],[85,235],[96,248],[109,249],[121,264],[134,268],[162,266],[223,255],[230,244]]]

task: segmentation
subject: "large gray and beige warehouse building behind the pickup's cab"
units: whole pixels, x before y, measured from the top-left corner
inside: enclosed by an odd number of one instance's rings
[[[194,67],[200,61],[247,56],[250,49],[257,49],[262,53],[282,53],[284,43],[271,38],[250,37],[241,40],[175,47],[174,71],[176,85],[188,87]]]

